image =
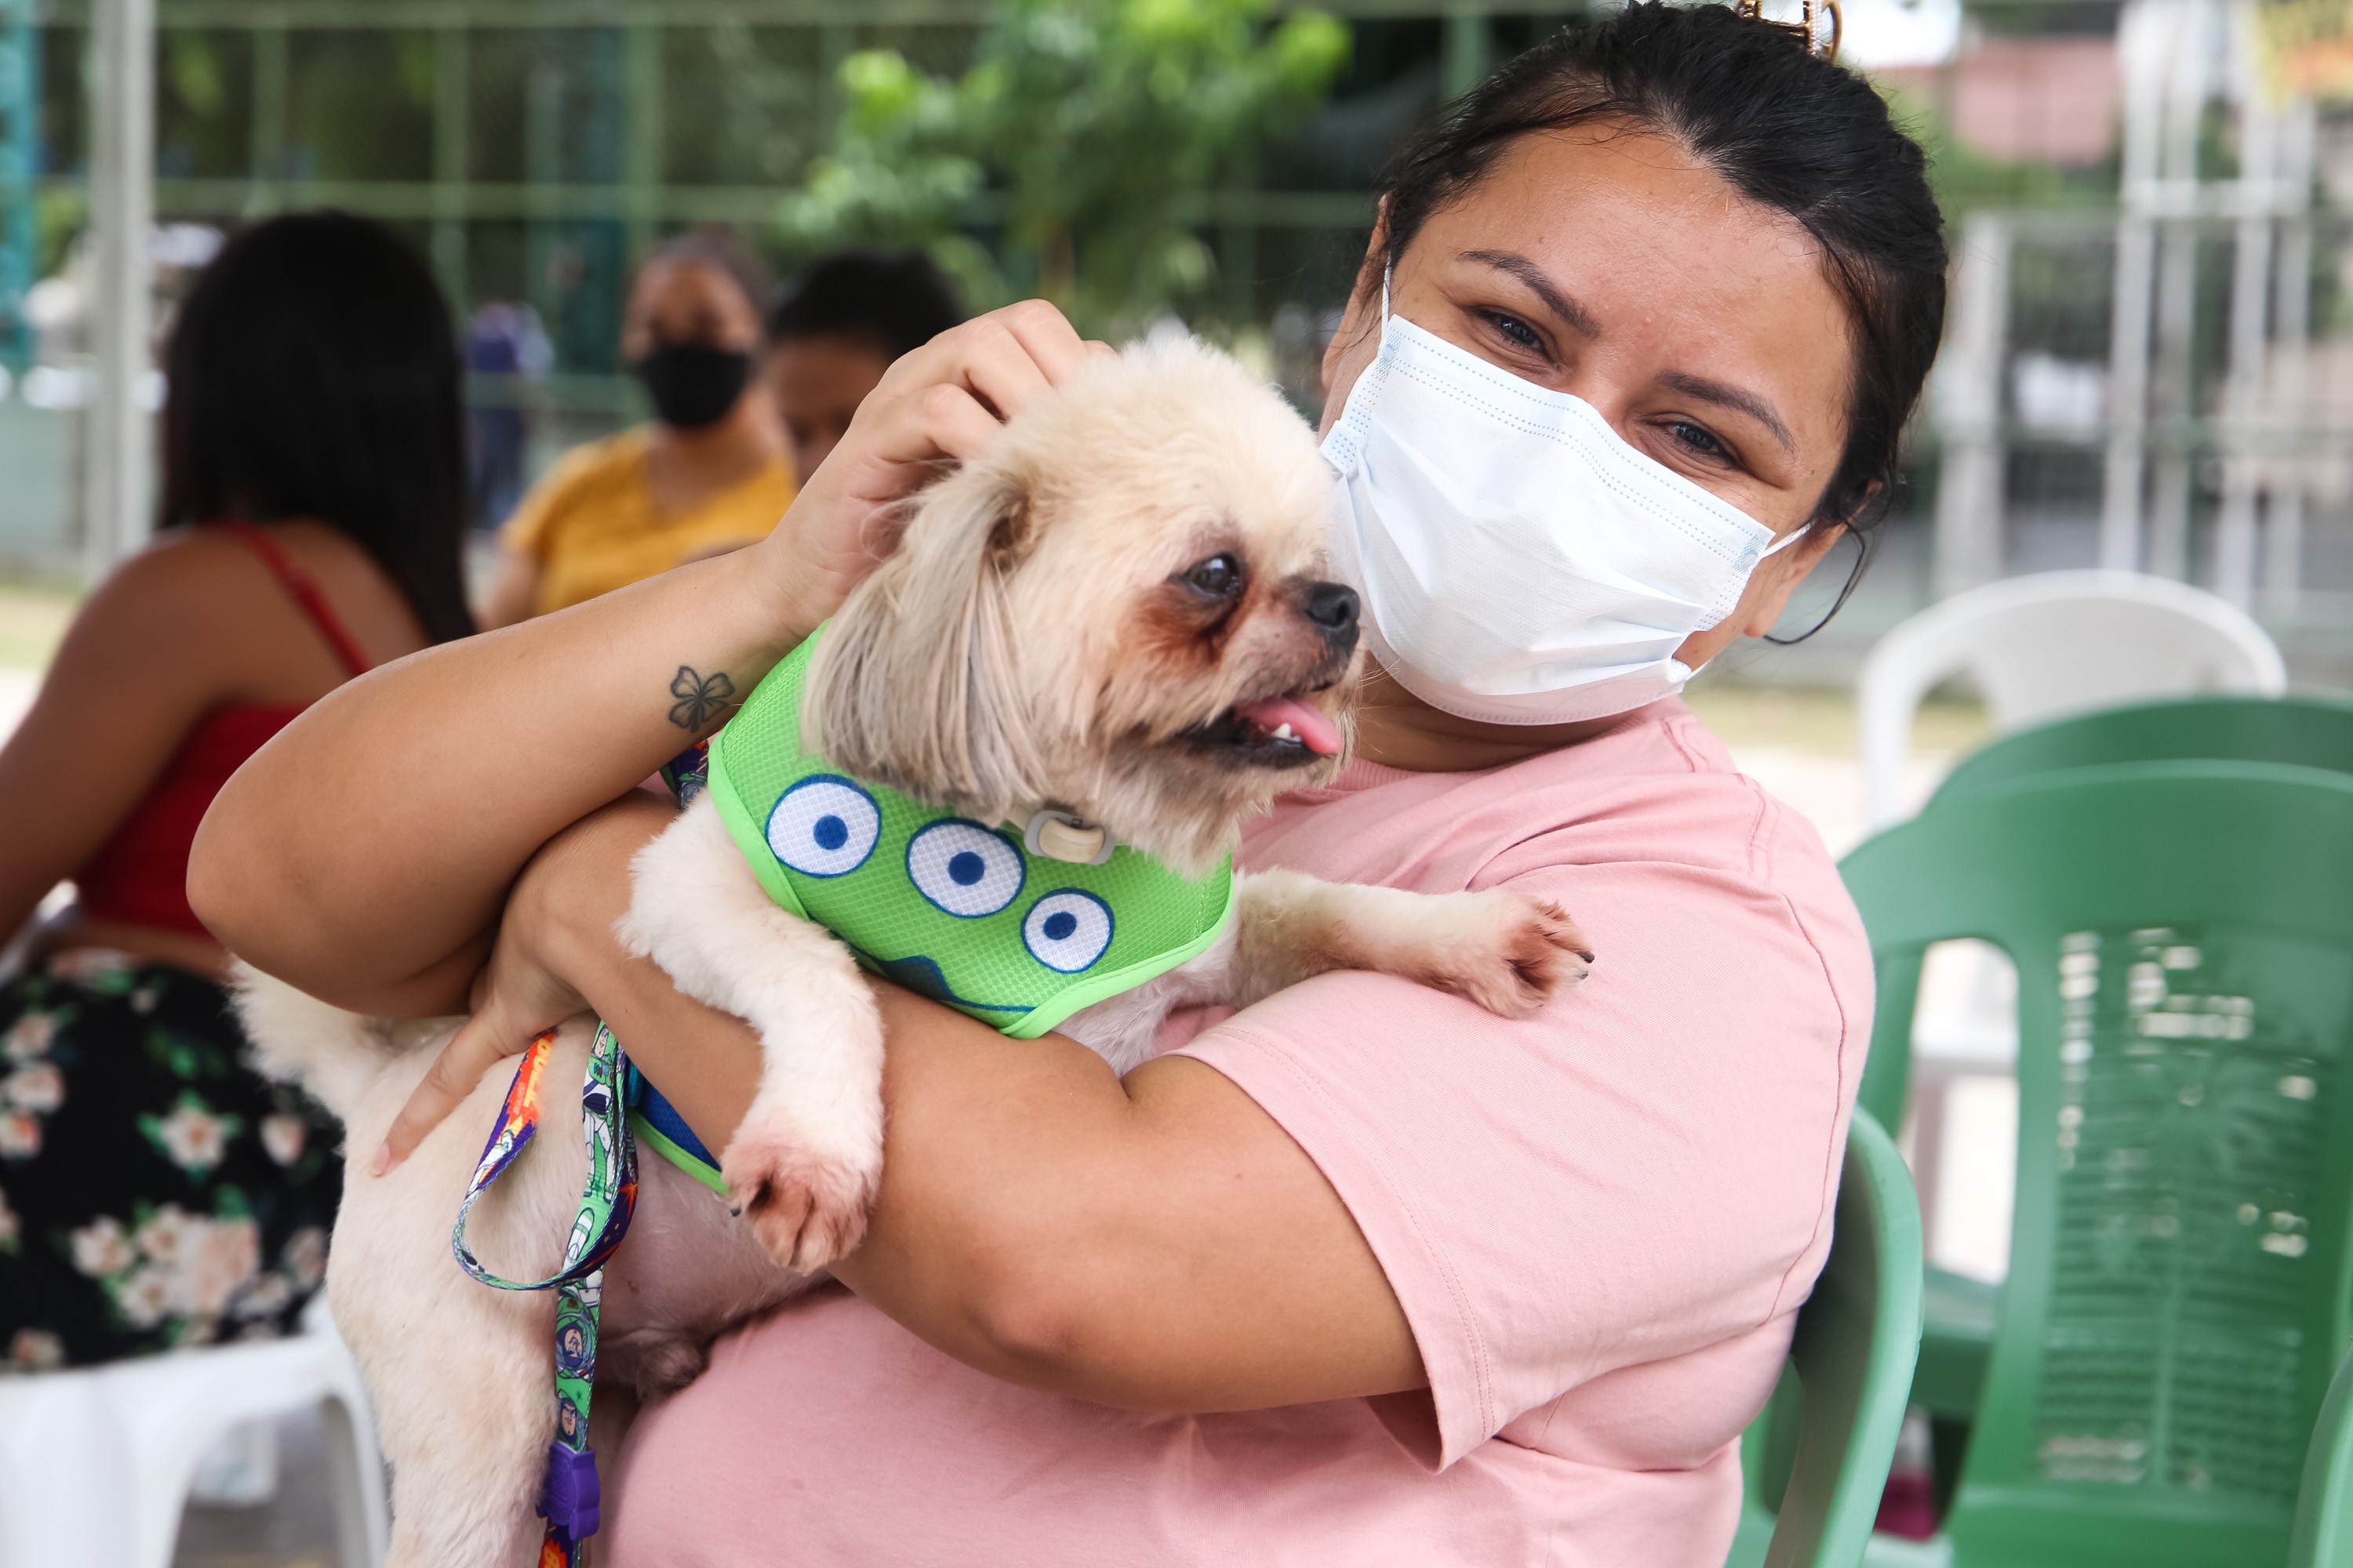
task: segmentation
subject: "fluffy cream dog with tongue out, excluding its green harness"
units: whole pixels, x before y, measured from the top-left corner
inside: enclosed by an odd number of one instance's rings
[[[1355,595],[1320,581],[1329,473],[1266,386],[1198,346],[1136,348],[1024,409],[925,491],[899,550],[807,670],[805,736],[831,766],[974,823],[1075,818],[1172,867],[1217,865],[1240,825],[1339,766]],[[1089,827],[1092,825],[1092,827]],[[605,1375],[675,1387],[704,1345],[856,1246],[882,1168],[882,1027],[868,980],[755,879],[706,792],[638,858],[624,940],[760,1034],[758,1098],[720,1157],[734,1204],[642,1161],[635,1227],[605,1272]],[[1068,1018],[1118,1070],[1174,1006],[1247,1006],[1329,969],[1379,969],[1518,1016],[1584,976],[1567,917],[1506,891],[1421,896],[1242,877],[1200,957]],[[249,976],[266,1063],[374,1147],[449,1023],[327,1009]],[[579,1084],[572,1023],[548,1084]],[[327,1288],[395,1467],[395,1568],[527,1561],[553,1406],[546,1295],[487,1291],[449,1220],[504,1074],[402,1166],[353,1171]],[[508,1276],[546,1274],[584,1175],[576,1095],[475,1208]],[[732,1213],[739,1208],[741,1213]]]

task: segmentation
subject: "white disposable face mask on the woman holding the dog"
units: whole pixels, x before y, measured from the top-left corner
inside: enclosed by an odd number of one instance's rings
[[[1487,724],[1567,724],[1673,696],[1675,649],[1795,543],[1642,456],[1593,404],[1388,313],[1322,451],[1332,571],[1381,668]]]

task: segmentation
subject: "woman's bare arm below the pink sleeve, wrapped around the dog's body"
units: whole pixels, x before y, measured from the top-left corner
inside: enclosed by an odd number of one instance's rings
[[[760,1041],[612,936],[645,797],[548,846],[511,919],[711,1150]],[[546,936],[553,933],[553,936]],[[1080,1044],[1007,1039],[875,983],[882,1187],[835,1276],[967,1366],[1151,1410],[1238,1410],[1419,1387],[1412,1331],[1339,1194],[1249,1095],[1193,1060],[1122,1081]],[[468,1067],[473,1086],[480,1067]]]

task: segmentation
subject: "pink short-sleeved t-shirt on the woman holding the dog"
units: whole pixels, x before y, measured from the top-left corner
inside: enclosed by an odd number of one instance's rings
[[[1598,952],[1520,1023],[1332,973],[1181,1046],[1339,1190],[1431,1394],[1136,1415],[998,1382],[828,1291],[640,1418],[614,1568],[1722,1563],[1871,1032],[1812,825],[1668,701],[1487,773],[1351,764],[1242,860],[1527,889]]]

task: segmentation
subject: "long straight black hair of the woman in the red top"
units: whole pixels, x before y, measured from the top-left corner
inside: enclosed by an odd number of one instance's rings
[[[158,527],[325,522],[426,637],[473,632],[456,334],[405,240],[341,212],[247,228],[181,303],[165,378]]]

